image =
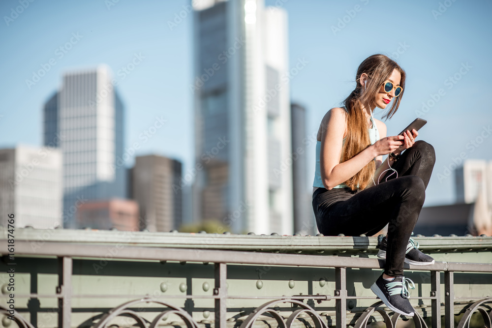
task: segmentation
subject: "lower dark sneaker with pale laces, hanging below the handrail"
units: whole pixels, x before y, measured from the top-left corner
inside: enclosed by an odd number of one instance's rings
[[[415,310],[408,300],[410,293],[408,292],[407,284],[410,289],[415,289],[413,281],[404,276],[397,276],[392,281],[388,281],[384,279],[381,274],[376,282],[372,284],[370,290],[376,294],[390,310],[404,316],[413,317]]]

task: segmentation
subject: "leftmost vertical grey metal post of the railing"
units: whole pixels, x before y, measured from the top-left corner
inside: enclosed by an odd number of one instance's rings
[[[72,312],[72,258],[58,258],[58,327],[71,327],[70,316]]]

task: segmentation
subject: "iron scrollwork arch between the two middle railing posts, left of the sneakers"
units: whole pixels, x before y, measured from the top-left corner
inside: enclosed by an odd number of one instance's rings
[[[293,303],[301,307],[301,309],[298,309],[287,318],[287,321],[284,322],[283,318],[271,307],[277,303]],[[299,315],[302,313],[306,313],[311,317],[312,321],[314,322],[314,327],[316,328],[327,328],[325,322],[323,319],[319,316],[319,314],[309,305],[301,302],[300,300],[297,299],[291,299],[291,298],[281,298],[281,299],[276,299],[272,300],[269,302],[266,302],[265,304],[257,307],[256,309],[253,310],[249,314],[249,316],[245,319],[245,321],[241,324],[240,328],[251,328],[253,327],[254,322],[258,319],[259,316],[264,315],[264,314],[269,314],[275,320],[277,320],[278,327],[280,328],[290,328],[292,327],[293,322],[297,319]]]

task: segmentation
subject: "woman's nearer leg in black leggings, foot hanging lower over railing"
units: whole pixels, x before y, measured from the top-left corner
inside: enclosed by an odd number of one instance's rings
[[[359,236],[389,224],[391,233],[388,234],[384,273],[403,275],[406,246],[424,200],[424,181],[417,176],[404,176],[360,191],[350,199],[328,207],[321,204],[316,221],[319,232],[325,236]]]

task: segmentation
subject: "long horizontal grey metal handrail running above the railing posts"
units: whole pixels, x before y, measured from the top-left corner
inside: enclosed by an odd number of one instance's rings
[[[6,248],[6,242],[0,241],[1,247]],[[46,255],[69,256],[85,258],[104,258],[107,255],[107,245],[84,245],[46,241],[41,248],[33,250],[29,242],[16,241],[16,251],[19,255]],[[377,259],[319,256],[305,254],[275,254],[276,266],[305,266],[305,267],[331,267],[331,268],[382,268],[382,262]],[[212,262],[220,261],[228,264],[271,265],[272,253],[226,251],[226,250],[201,250],[199,253],[193,249],[184,248],[154,248],[126,246],[119,250],[114,259],[139,259],[155,261],[177,262]],[[448,265],[452,265],[455,271],[466,272],[492,272],[492,264],[480,263],[447,263],[436,262],[431,266],[405,266],[410,270],[447,271]]]

